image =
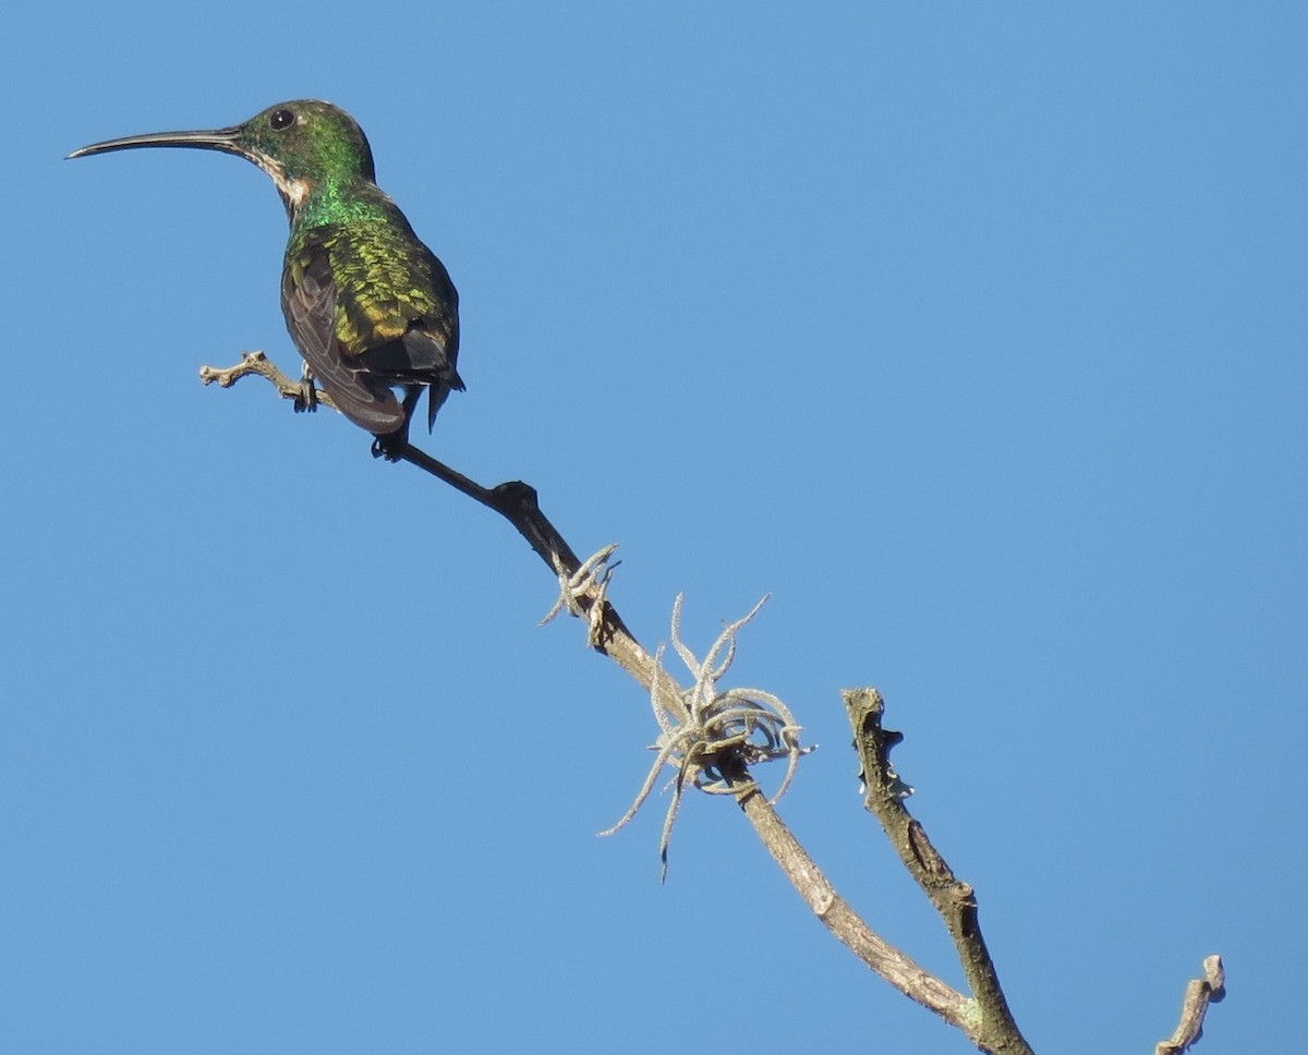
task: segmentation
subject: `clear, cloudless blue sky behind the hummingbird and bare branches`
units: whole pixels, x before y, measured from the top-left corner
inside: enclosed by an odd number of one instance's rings
[[[596,839],[641,692],[497,518],[201,363],[297,360],[281,205],[133,132],[331,99],[463,298],[429,450],[820,750],[782,814],[888,940],[878,685],[1037,1050],[1271,1050],[1308,939],[1301,4],[10,5],[0,1047],[971,1050],[735,807]]]

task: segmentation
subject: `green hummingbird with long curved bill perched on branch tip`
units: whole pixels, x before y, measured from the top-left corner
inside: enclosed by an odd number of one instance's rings
[[[272,178],[290,221],[281,310],[303,358],[297,410],[314,409],[317,379],[345,417],[373,434],[373,455],[395,460],[425,388],[430,430],[446,396],[463,391],[459,294],[377,186],[373,150],[349,114],[297,99],[230,128],[124,136],[68,157],[137,146],[222,150]]]

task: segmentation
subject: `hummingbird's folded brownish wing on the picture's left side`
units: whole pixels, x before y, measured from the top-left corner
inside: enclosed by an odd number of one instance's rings
[[[309,369],[351,421],[374,435],[404,427],[404,408],[385,384],[352,366],[336,336],[336,282],[327,246],[311,239],[286,260],[281,303],[290,337]]]

